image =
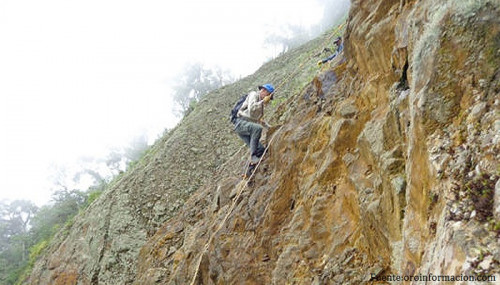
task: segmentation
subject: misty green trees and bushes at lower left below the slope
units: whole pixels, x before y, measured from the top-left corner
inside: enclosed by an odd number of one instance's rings
[[[124,169],[140,163],[151,151],[146,137],[139,136],[124,149],[112,150],[104,160],[88,159],[91,163],[80,165],[74,177],[64,167],[56,169],[55,184],[61,190],[55,191],[51,202],[42,207],[26,200],[0,201],[0,284],[21,283],[56,235],[67,236],[75,216],[119,180]],[[107,173],[113,180],[107,178]],[[94,179],[94,186],[86,191],[68,190],[65,186],[84,175]]]

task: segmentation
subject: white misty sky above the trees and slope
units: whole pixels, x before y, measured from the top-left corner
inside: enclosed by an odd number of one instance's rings
[[[273,29],[321,17],[315,0],[0,1],[0,199],[45,203],[49,165],[173,127],[186,62],[247,75]]]

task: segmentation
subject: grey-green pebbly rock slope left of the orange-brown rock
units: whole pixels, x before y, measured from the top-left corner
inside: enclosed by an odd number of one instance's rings
[[[259,84],[282,81],[292,70],[297,72],[293,80],[280,86],[280,100],[296,93],[316,70],[314,63],[300,70],[296,66],[324,41],[320,38],[298,48],[254,75],[203,98],[133,169],[115,179],[97,201],[55,237],[24,283],[132,283],[142,245],[193,192],[211,184],[229,158],[243,150],[228,119],[235,100],[244,92],[256,90]]]

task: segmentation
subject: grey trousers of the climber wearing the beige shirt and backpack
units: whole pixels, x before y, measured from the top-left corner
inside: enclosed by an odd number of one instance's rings
[[[252,163],[258,162],[266,149],[259,141],[262,134],[262,126],[257,123],[237,119],[234,131],[250,148]]]

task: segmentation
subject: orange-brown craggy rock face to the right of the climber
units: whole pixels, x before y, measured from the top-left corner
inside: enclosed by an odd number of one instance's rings
[[[500,280],[500,7],[459,2],[353,1],[343,58],[272,114],[253,183],[237,153],[135,284]]]

